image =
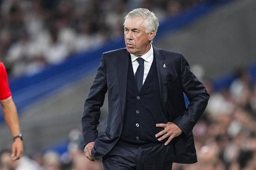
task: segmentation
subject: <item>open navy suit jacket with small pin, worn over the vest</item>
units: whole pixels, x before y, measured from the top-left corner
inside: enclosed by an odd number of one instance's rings
[[[207,106],[209,94],[190,71],[182,54],[153,47],[160,85],[161,105],[169,122],[183,133],[170,142],[173,162],[197,162],[192,129]],[[85,100],[82,116],[84,146],[95,142],[92,155],[107,154],[121,136],[126,107],[127,72],[130,54],[126,48],[105,52]],[[108,91],[108,120],[105,135],[98,136],[100,108]],[[189,105],[186,108],[184,94]]]

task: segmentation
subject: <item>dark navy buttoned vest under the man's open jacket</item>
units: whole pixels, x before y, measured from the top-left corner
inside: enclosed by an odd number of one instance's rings
[[[128,146],[149,147],[164,143],[158,141],[155,134],[163,130],[156,123],[167,123],[160,101],[160,88],[155,58],[140,90],[137,89],[131,58],[127,74],[127,96],[124,114],[124,126],[119,143]]]

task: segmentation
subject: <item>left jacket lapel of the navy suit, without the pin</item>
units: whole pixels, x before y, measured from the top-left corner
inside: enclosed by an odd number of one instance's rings
[[[128,51],[120,54],[118,59],[116,60],[116,71],[117,71],[117,79],[119,85],[119,96],[120,96],[120,104],[122,109],[122,116],[124,116],[125,112],[125,103],[126,103],[126,88],[127,88],[127,74],[128,74],[128,64],[129,64],[130,54]]]

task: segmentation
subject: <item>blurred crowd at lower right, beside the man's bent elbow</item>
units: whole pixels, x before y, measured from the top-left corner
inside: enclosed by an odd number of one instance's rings
[[[204,81],[211,97],[193,129],[198,163],[177,170],[256,169],[256,85],[246,69],[234,74],[232,84],[219,92]]]

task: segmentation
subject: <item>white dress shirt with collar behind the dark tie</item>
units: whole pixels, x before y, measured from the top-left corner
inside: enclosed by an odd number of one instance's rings
[[[131,54],[132,68],[133,68],[134,75],[135,75],[136,70],[139,66],[139,62],[136,60],[137,58],[139,58],[139,56]],[[147,78],[147,75],[148,75],[148,72],[149,72],[150,67],[152,65],[152,62],[153,62],[153,47],[152,47],[152,44],[150,45],[150,50],[146,54],[142,55],[141,58],[144,59],[144,76],[143,76],[143,83],[142,83],[142,85],[143,85],[144,82],[145,82],[145,79]]]

